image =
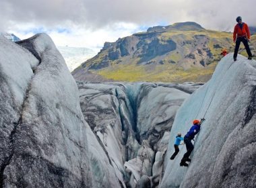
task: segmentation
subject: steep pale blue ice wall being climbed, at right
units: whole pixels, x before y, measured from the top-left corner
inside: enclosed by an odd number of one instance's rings
[[[212,79],[187,99],[172,125],[160,187],[255,187],[256,62],[228,54]],[[189,167],[179,167],[182,146],[174,160],[174,136],[187,133],[203,118]]]

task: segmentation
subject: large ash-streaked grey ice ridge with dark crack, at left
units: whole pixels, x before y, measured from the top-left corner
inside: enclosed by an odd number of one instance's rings
[[[51,38],[0,40],[1,187],[92,187],[88,124]]]

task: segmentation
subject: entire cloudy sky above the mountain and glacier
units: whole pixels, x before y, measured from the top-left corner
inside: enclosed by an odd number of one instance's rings
[[[255,0],[0,0],[0,31],[46,32],[57,46],[101,48],[150,26],[195,21],[230,31],[241,15],[256,26]]]

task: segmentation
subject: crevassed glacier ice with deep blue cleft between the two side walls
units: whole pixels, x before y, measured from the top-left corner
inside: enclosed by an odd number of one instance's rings
[[[105,186],[107,169],[115,172],[123,187],[136,187],[141,178],[154,179],[157,185],[177,109],[201,84],[77,81],[77,85],[84,118],[101,146],[94,142],[91,147],[108,158],[102,167],[100,157],[91,156],[102,176],[98,187]]]

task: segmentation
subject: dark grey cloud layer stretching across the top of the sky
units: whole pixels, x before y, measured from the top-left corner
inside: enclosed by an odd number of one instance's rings
[[[119,21],[143,26],[196,21],[204,28],[230,30],[238,15],[256,26],[255,5],[251,0],[1,0],[0,30],[11,30],[15,23],[97,29]]]

